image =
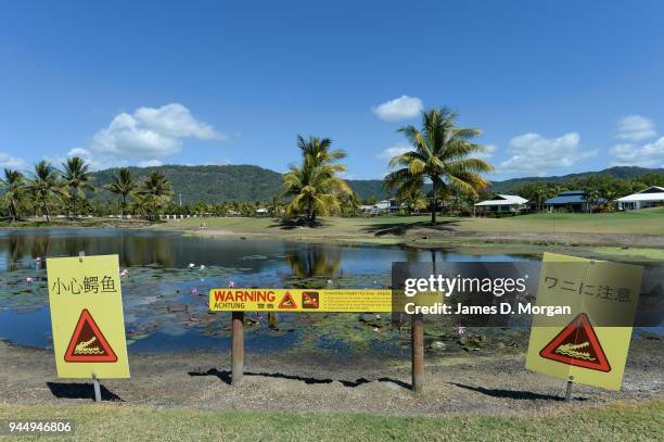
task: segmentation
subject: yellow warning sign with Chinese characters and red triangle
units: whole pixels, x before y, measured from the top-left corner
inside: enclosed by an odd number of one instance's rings
[[[61,378],[128,378],[117,255],[47,260]]]

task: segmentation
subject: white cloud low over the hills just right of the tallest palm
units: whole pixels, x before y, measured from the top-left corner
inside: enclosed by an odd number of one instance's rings
[[[565,168],[597,155],[598,151],[583,151],[580,136],[569,132],[559,138],[544,138],[539,134],[524,134],[510,140],[512,155],[497,167],[498,173],[544,176],[549,171]]]

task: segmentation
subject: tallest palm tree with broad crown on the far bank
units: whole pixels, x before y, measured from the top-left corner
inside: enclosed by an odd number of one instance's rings
[[[476,128],[457,127],[457,113],[449,109],[432,109],[422,112],[422,128],[406,126],[399,129],[411,151],[390,161],[391,167],[401,168],[390,173],[384,180],[386,189],[420,189],[424,180],[433,184],[431,223],[436,223],[437,195],[440,190],[458,190],[476,194],[488,181],[480,173],[494,167],[483,160],[468,157],[482,152],[484,146],[471,140],[482,134]]]

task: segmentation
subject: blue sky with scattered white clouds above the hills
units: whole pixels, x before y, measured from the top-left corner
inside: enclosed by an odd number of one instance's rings
[[[491,179],[664,166],[661,1],[0,3],[0,166],[257,164],[297,134],[381,178],[451,106]],[[382,105],[383,104],[383,105]]]

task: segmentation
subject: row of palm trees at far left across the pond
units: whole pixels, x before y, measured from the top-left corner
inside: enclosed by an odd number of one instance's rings
[[[53,210],[66,212],[69,218],[77,217],[89,207],[88,195],[98,192],[92,181],[90,165],[79,156],[67,159],[62,169],[42,160],[28,176],[5,168],[0,178],[2,209],[12,223],[22,216],[39,214],[50,222]],[[137,181],[128,168],[120,168],[105,190],[120,198],[123,216],[131,199],[132,212],[151,219],[156,219],[159,209],[173,198],[170,182],[158,172]]]

